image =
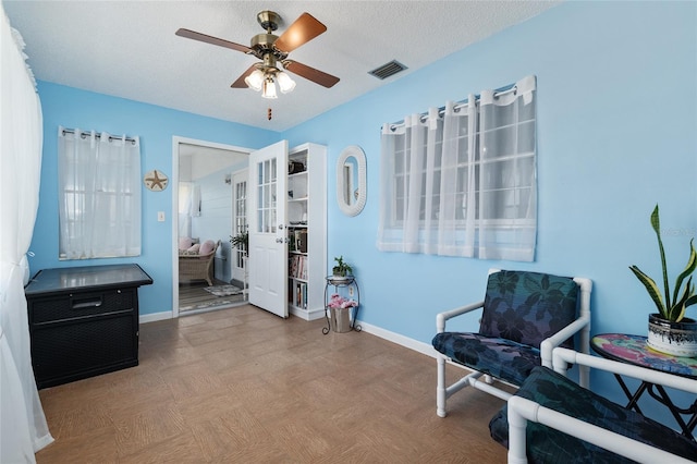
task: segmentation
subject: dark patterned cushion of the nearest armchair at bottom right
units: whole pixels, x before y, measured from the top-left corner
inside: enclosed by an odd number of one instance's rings
[[[694,441],[579,387],[547,367],[534,368],[516,395],[673,454],[697,460],[697,443]],[[509,448],[506,406],[493,416],[489,423],[489,431],[491,438]],[[559,430],[530,422],[527,424],[526,441],[527,457],[530,463],[634,462]]]

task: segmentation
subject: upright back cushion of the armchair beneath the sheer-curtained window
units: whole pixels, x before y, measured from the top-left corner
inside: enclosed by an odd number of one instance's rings
[[[489,276],[479,333],[539,349],[576,319],[577,306],[572,278],[502,270]],[[573,349],[573,339],[562,345]]]

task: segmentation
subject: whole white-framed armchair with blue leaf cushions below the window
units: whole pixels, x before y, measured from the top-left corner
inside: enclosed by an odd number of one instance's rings
[[[576,333],[580,351],[588,353],[591,286],[585,278],[492,269],[482,302],[438,314],[432,340],[438,352],[438,415],[444,417],[447,399],[467,386],[508,400],[511,393],[496,387],[493,379],[519,387],[534,367],[552,367],[552,350],[573,347]],[[448,320],[479,308],[484,310],[478,332],[445,331]],[[447,361],[473,371],[447,386]],[[587,367],[579,369],[579,377],[588,386]]]

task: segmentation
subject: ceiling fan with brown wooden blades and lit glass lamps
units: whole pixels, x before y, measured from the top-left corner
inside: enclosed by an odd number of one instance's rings
[[[176,35],[242,51],[246,54],[254,54],[261,60],[260,63],[249,66],[232,83],[231,87],[249,87],[257,91],[262,90],[261,96],[265,98],[277,98],[274,82],[278,82],[282,93],[289,93],[295,87],[293,80],[283,70],[327,88],[339,82],[339,77],[288,59],[291,51],[327,30],[327,26],[313,15],[303,13],[280,36],[272,34],[281,22],[281,16],[278,13],[261,11],[257,14],[257,22],[266,29],[266,33],[252,37],[249,47],[184,28],[176,30]],[[279,63],[282,64],[282,68],[279,66]]]

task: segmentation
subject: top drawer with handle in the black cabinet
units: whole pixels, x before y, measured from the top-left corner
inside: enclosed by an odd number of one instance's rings
[[[76,292],[61,296],[29,298],[29,323],[81,319],[130,310],[136,307],[136,298],[137,293],[134,289]]]

